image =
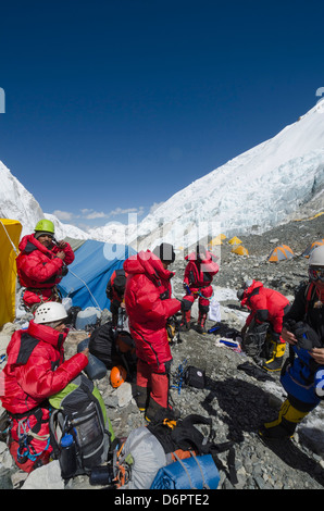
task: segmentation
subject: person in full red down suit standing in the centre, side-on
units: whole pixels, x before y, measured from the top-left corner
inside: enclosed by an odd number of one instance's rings
[[[167,270],[174,261],[172,245],[162,244],[151,252],[140,251],[124,262],[128,274],[125,304],[137,356],[137,406],[152,421],[160,413],[171,413],[169,373],[172,362],[166,321],[180,310],[172,298]]]

